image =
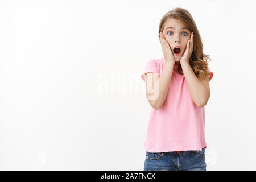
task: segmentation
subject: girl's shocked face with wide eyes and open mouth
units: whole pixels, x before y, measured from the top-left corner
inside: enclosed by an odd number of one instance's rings
[[[184,22],[174,18],[170,18],[164,23],[163,35],[174,54],[174,59],[179,62],[190,39],[191,32]],[[175,47],[179,47],[175,48]]]

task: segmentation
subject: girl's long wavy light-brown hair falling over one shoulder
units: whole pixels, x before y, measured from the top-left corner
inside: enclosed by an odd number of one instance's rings
[[[191,68],[193,69],[193,72],[197,77],[205,78],[206,76],[209,76],[210,72],[208,71],[207,61],[208,59],[210,59],[210,57],[209,55],[205,55],[203,53],[203,43],[201,40],[201,36],[199,34],[199,31],[197,30],[196,23],[194,22],[192,15],[188,12],[188,10],[180,7],[168,11],[160,20],[159,33],[163,32],[164,23],[166,23],[169,18],[175,18],[177,20],[183,21],[185,24],[187,24],[189,31],[194,32],[193,52],[191,54],[189,64],[191,65]],[[177,63],[177,65],[178,72],[180,74],[183,74],[180,72],[182,71],[180,62]]]

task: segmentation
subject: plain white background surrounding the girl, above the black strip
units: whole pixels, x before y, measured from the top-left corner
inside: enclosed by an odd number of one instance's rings
[[[0,169],[143,170],[162,16],[187,9],[212,61],[207,170],[256,169],[255,1],[0,1]]]

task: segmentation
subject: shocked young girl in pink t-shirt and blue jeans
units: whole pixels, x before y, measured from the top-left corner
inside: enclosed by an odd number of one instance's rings
[[[185,9],[163,16],[159,40],[164,58],[149,60],[141,75],[152,107],[144,170],[206,170],[204,106],[213,77],[210,58]]]

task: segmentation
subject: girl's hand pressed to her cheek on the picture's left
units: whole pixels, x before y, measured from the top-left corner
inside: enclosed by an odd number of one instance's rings
[[[159,40],[162,46],[165,63],[175,64],[174,55],[172,53],[171,47],[167,42],[166,38],[164,38],[162,32],[160,32],[159,34]]]

